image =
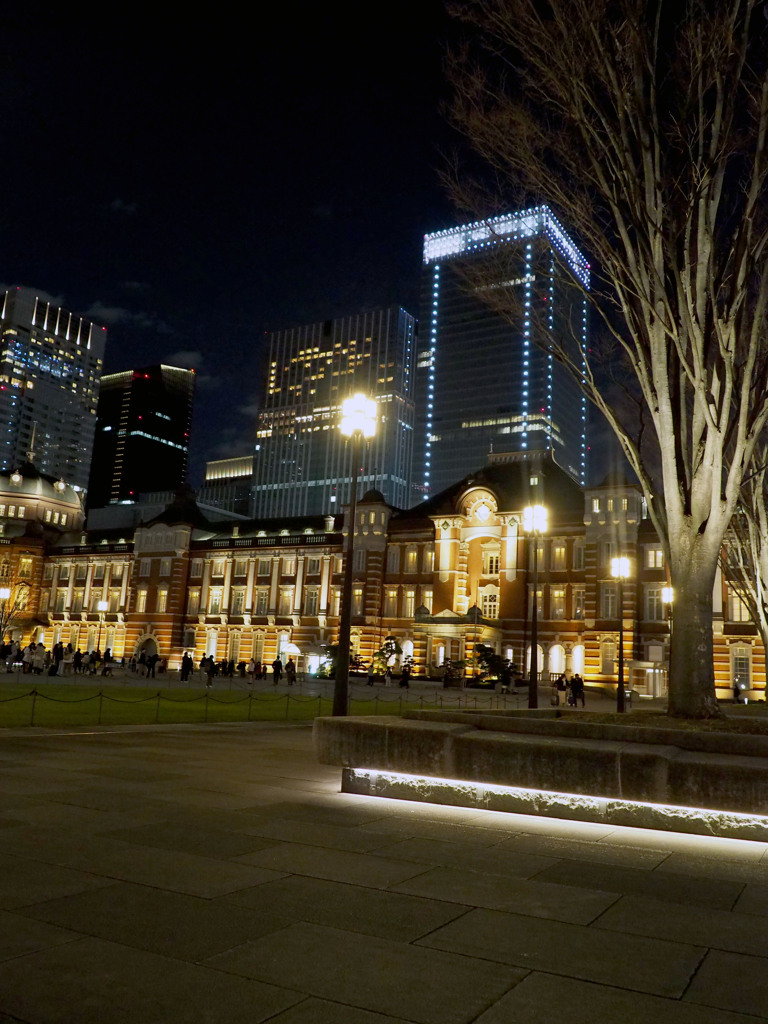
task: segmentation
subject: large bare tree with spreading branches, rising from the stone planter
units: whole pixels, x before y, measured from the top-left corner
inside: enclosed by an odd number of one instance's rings
[[[713,587],[768,418],[764,6],[453,8],[472,28],[450,66],[456,123],[497,196],[546,203],[594,259],[590,298],[636,389],[627,419],[589,353],[584,362],[572,344],[542,342],[611,425],[664,545],[676,595],[674,715],[719,714]],[[475,213],[478,191],[460,169],[456,196]]]

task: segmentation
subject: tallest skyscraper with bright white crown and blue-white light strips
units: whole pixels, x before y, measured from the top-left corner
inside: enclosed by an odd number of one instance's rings
[[[586,398],[537,332],[579,358],[589,265],[545,206],[424,238],[417,360],[417,495],[481,467],[489,452],[549,451],[586,477]],[[514,294],[509,310],[488,299]],[[541,340],[541,337],[539,338]]]

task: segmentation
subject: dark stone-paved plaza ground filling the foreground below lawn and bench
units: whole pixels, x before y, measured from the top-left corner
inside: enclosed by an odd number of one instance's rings
[[[302,725],[0,733],[0,1022],[768,1020],[768,846],[338,788]]]

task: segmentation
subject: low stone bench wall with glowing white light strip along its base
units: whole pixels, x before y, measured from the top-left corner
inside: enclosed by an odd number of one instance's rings
[[[314,738],[322,762],[371,770],[345,773],[350,792],[768,839],[766,736],[443,711],[319,718]]]

